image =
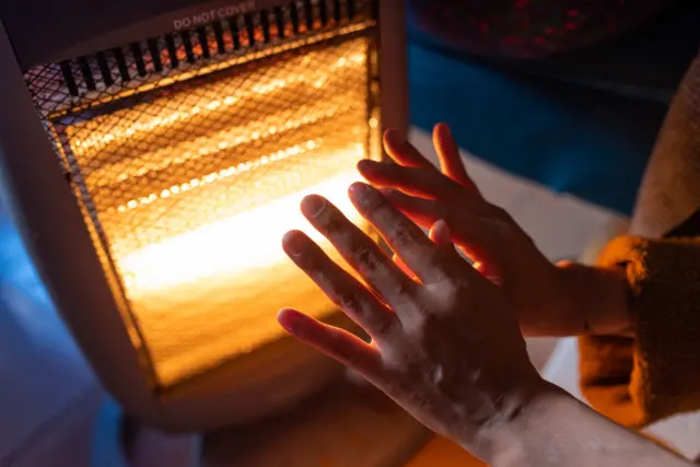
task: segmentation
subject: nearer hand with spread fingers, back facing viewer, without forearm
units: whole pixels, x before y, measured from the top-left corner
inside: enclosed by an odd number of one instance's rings
[[[375,293],[301,232],[285,235],[284,250],[372,342],[293,310],[280,312],[280,324],[488,460],[487,433],[498,432],[490,429],[516,418],[547,386],[506,296],[458,255],[444,222],[428,237],[371,186],[352,185],[350,198],[410,276],[330,202],[307,197],[304,215]]]

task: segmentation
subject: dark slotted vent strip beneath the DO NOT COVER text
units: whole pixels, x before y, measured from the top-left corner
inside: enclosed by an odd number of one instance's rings
[[[215,19],[145,40],[34,67],[25,80],[46,116],[114,101],[192,73],[225,68],[233,59],[285,50],[300,40],[364,28],[371,0],[303,0]],[[191,26],[188,21],[186,26]]]

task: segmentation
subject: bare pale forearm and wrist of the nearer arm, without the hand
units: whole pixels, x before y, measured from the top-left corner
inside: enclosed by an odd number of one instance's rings
[[[492,467],[684,467],[686,459],[609,421],[559,388],[505,425],[486,428]],[[469,446],[465,446],[469,448]]]

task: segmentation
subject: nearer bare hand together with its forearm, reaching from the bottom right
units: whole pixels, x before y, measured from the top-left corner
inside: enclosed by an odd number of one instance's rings
[[[686,465],[538,375],[513,303],[499,283],[505,264],[475,269],[455,250],[445,221],[434,222],[425,236],[369,185],[354,184],[350,199],[401,266],[318,196],[305,198],[302,212],[363,282],[301,232],[288,233],[283,247],[372,341],[282,310],[278,319],[291,335],[348,365],[428,428],[494,467]],[[481,208],[482,223],[516,238],[501,224],[499,209]],[[499,275],[499,281],[487,272]]]

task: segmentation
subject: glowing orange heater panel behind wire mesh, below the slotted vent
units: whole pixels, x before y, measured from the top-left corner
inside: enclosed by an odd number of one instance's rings
[[[366,227],[347,188],[376,138],[369,49],[273,57],[66,127],[162,386],[278,338],[282,306],[334,312],[280,241],[302,229],[337,257],[299,211],[312,192]]]

